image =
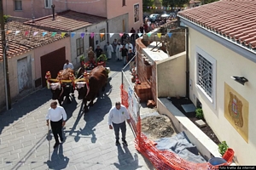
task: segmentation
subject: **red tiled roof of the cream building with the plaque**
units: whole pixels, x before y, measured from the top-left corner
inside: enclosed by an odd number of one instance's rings
[[[256,49],[256,0],[222,0],[178,16],[249,49]]]

